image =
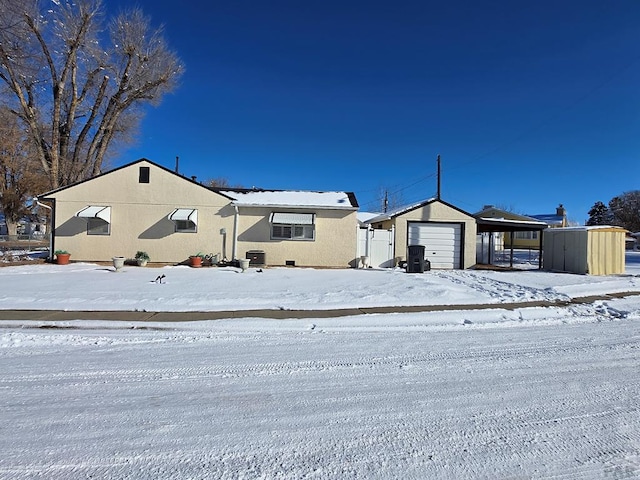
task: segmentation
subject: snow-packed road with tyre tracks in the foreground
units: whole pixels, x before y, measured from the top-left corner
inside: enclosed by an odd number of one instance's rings
[[[638,478],[637,312],[566,314],[5,327],[0,478]]]

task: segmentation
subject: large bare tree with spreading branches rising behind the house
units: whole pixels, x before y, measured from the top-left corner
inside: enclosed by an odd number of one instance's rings
[[[184,68],[140,9],[105,28],[100,0],[0,0],[2,101],[34,141],[50,187],[101,172],[105,156]]]

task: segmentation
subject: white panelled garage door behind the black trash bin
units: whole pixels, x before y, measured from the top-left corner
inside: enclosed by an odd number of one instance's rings
[[[461,268],[462,225],[410,223],[408,245],[424,245],[431,268]]]

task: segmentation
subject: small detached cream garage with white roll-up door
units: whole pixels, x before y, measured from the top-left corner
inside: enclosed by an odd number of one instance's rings
[[[432,198],[369,220],[374,229],[395,232],[394,263],[406,261],[410,246],[423,246],[434,269],[470,268],[476,260],[476,220]]]

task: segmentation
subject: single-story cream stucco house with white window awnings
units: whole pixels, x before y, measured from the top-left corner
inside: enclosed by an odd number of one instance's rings
[[[52,251],[110,261],[146,251],[151,262],[219,260],[260,251],[268,265],[348,267],[358,203],[350,192],[206,187],[147,159],[43,194]]]

